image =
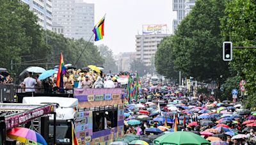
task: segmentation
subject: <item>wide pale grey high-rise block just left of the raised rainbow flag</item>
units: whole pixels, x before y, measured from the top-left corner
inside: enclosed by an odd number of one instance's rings
[[[52,22],[54,27],[63,27],[63,35],[67,38],[88,41],[94,27],[94,4],[83,0],[52,0]],[[93,41],[93,39],[91,39]]]

